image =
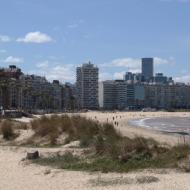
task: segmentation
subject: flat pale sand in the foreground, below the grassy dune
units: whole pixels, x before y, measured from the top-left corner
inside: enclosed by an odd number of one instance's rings
[[[43,150],[40,150],[43,152]],[[45,150],[51,151],[51,150]],[[54,150],[58,151],[58,150]],[[99,174],[86,172],[72,172],[50,169],[48,167],[36,166],[22,162],[25,157],[24,148],[6,148],[0,150],[0,189],[4,190],[88,190],[88,189],[129,189],[129,190],[188,190],[190,174],[178,173],[175,171],[144,171],[129,174]],[[114,180],[118,178],[136,179],[142,176],[154,176],[159,179],[155,183],[124,185],[106,185],[98,183],[98,179]],[[97,180],[97,185],[90,183],[91,180]]]

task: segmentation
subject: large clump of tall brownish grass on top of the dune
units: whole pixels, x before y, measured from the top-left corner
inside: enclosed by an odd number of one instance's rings
[[[96,121],[80,117],[63,115],[43,116],[40,119],[31,121],[34,137],[47,137],[50,145],[57,144],[57,138],[66,134],[65,144],[79,140],[81,147],[88,147],[94,143],[95,137],[100,133],[109,133],[112,129],[113,135],[117,136],[113,126],[110,124],[99,124]],[[110,131],[111,132],[111,131]]]

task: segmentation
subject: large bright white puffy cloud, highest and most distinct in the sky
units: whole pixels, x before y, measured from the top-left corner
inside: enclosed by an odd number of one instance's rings
[[[53,42],[54,40],[48,36],[47,34],[37,32],[29,32],[25,35],[24,38],[18,38],[17,42],[24,42],[24,43],[47,43]]]

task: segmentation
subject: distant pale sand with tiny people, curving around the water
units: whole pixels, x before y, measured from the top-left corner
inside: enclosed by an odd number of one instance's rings
[[[129,121],[132,119],[141,118],[172,118],[172,117],[190,117],[189,112],[87,112],[82,113],[82,116],[98,120],[100,122],[111,122],[114,124],[115,121],[119,123],[116,128],[121,132],[121,134],[128,137],[143,136],[146,138],[153,138],[161,143],[166,143],[169,145],[176,145],[181,143],[181,136],[164,134],[159,131],[146,129],[142,127],[134,127],[129,125]],[[114,120],[113,120],[114,117]]]

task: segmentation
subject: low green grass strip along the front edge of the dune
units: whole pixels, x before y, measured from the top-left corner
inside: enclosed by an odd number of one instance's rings
[[[176,149],[180,149],[180,151],[176,153]],[[181,149],[183,151],[181,151]],[[125,162],[121,162],[120,160],[113,159],[109,156],[97,155],[94,155],[93,157],[86,157],[86,159],[81,159],[80,157],[72,155],[71,153],[66,153],[63,156],[40,158],[34,162],[44,166],[52,166],[59,169],[74,171],[121,173],[149,168],[180,168],[178,163],[188,154],[190,154],[189,150],[189,147],[174,147],[157,157],[147,157],[143,153],[139,153],[134,154],[133,157]]]

